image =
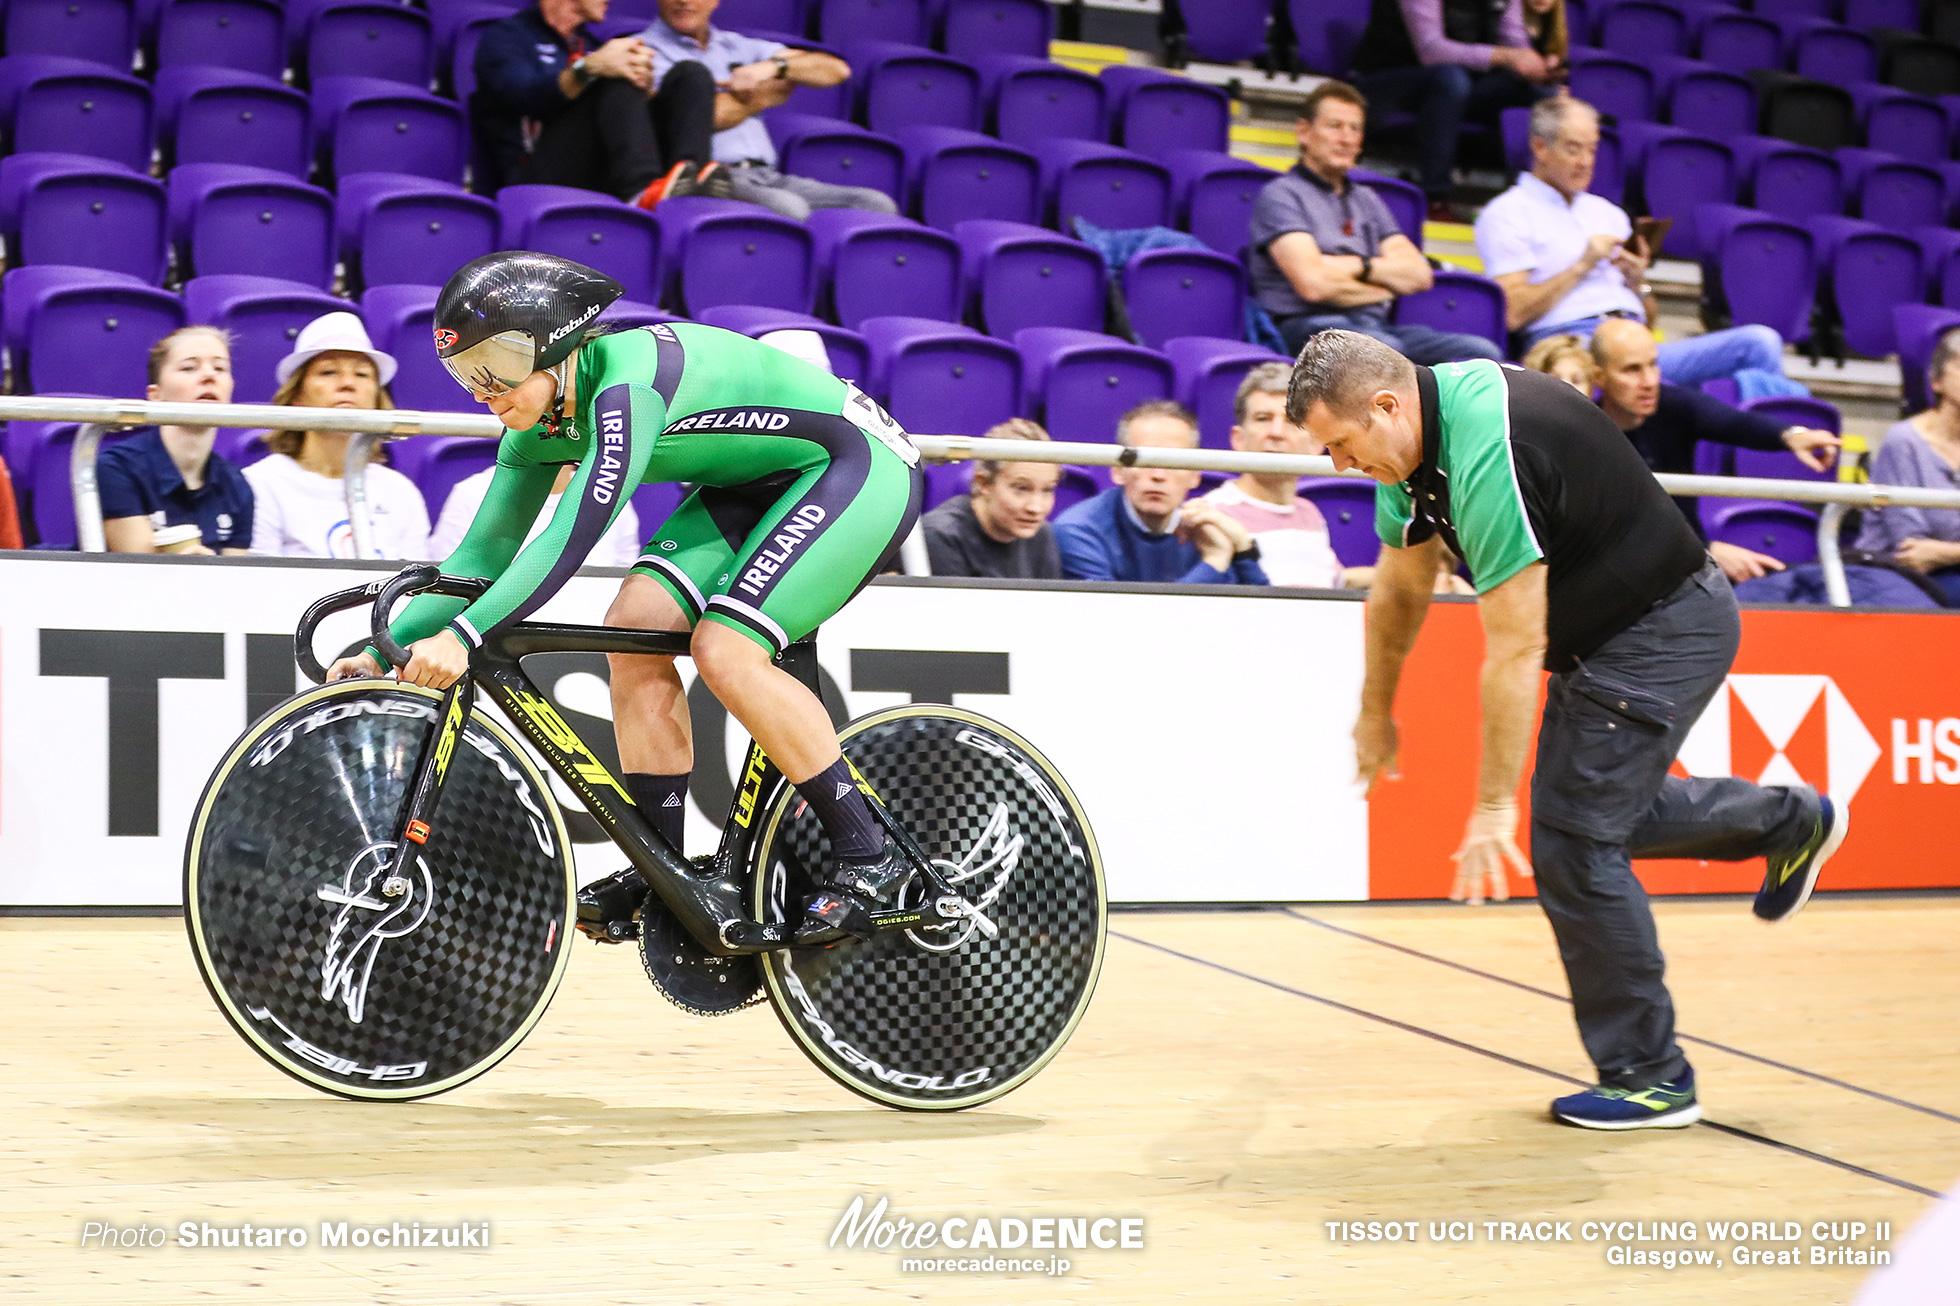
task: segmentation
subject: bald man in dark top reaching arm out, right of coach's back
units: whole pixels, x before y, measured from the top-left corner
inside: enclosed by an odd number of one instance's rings
[[[1637,322],[1603,322],[1592,337],[1599,408],[1627,431],[1641,459],[1656,473],[1691,473],[1695,441],[1709,439],[1740,449],[1789,449],[1805,467],[1825,471],[1837,457],[1838,437],[1803,426],[1784,426],[1744,408],[1731,408],[1701,390],[1660,380],[1654,337]],[[1690,526],[1701,531],[1695,500],[1676,498]],[[1709,553],[1731,580],[1754,580],[1784,565],[1766,553],[1715,541]]]

